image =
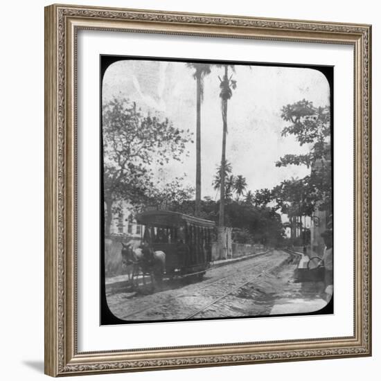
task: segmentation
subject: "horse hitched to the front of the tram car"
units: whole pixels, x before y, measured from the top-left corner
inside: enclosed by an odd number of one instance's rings
[[[122,243],[122,263],[125,263],[126,267],[132,269],[128,272],[128,279],[134,285],[134,278],[137,278],[139,274],[143,276],[143,285],[145,285],[145,276],[149,275],[151,278],[152,289],[154,289],[154,281],[162,280],[163,274],[166,269],[166,254],[163,251],[154,251],[152,254],[152,260],[145,258],[143,250],[140,247],[133,247],[132,243]],[[136,280],[136,285],[138,281]]]

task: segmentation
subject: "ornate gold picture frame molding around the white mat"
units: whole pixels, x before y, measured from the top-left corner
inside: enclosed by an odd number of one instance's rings
[[[355,62],[354,335],[78,353],[76,37],[123,30],[348,44]],[[82,375],[371,355],[371,26],[52,5],[45,8],[45,373]]]

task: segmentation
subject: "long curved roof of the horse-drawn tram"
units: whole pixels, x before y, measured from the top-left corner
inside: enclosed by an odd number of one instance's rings
[[[193,215],[170,211],[145,211],[136,215],[136,221],[139,224],[157,227],[180,226],[184,224],[184,222],[197,227],[215,227],[214,221],[203,220],[202,218],[193,217]]]

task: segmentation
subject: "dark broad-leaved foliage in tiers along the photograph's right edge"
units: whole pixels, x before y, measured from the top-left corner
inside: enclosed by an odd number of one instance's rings
[[[326,210],[332,204],[330,163],[330,109],[314,107],[308,100],[300,100],[282,108],[281,117],[290,122],[282,136],[295,136],[300,145],[308,145],[305,154],[286,154],[276,166],[307,166],[311,174],[303,179],[282,181],[272,190],[276,209],[289,215],[312,215],[314,210]]]

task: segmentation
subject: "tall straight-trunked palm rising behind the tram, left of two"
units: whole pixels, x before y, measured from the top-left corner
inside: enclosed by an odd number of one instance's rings
[[[211,73],[211,65],[197,62],[187,63],[193,69],[196,80],[196,200],[195,215],[200,215],[201,209],[201,103],[204,98],[204,77]]]

